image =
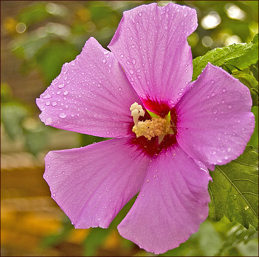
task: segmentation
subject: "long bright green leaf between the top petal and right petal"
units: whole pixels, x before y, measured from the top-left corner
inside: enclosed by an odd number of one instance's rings
[[[233,60],[232,60],[233,59]],[[230,61],[231,60],[231,61]],[[205,55],[192,60],[193,74],[192,81],[196,80],[205,69],[208,62],[215,66],[221,66],[223,63],[235,65],[239,69],[247,68],[258,60],[258,34],[254,36],[251,43],[232,44],[222,48],[215,48],[208,51]]]

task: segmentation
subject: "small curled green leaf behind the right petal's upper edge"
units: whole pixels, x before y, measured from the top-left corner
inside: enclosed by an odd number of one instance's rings
[[[258,81],[250,74],[239,71],[233,72],[232,76],[248,87],[252,98],[252,106],[258,106]]]

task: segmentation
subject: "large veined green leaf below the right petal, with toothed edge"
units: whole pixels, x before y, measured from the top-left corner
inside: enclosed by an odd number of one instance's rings
[[[210,175],[209,216],[217,222],[225,215],[248,229],[258,229],[258,154],[252,146],[236,160],[217,166]]]

